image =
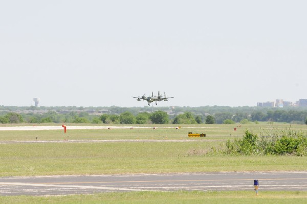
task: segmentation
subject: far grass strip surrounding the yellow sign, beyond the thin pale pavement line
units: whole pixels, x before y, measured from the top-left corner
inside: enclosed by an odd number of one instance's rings
[[[24,124],[25,125],[25,124]],[[51,125],[51,124],[48,124]],[[53,124],[59,125],[59,124]],[[84,125],[84,124],[83,124]],[[91,125],[91,124],[89,124]],[[2,124],[3,126],[3,124]],[[60,126],[60,125],[59,125]],[[72,124],[76,126],[76,124]],[[97,126],[97,125],[96,125]],[[276,123],[273,125],[267,123],[261,124],[150,124],[150,125],[124,125],[126,127],[131,126],[150,126],[148,129],[114,129],[116,125],[102,125],[104,127],[110,127],[111,129],[70,129],[70,125],[67,125],[67,133],[63,133],[62,130],[35,130],[35,131],[0,131],[0,141],[35,141],[37,140],[123,140],[123,139],[147,139],[147,140],[198,140],[198,138],[188,138],[188,132],[193,133],[206,133],[207,137],[202,140],[228,140],[234,138],[240,138],[244,135],[246,129],[255,133],[268,132],[274,129],[291,129],[293,131],[305,131],[307,132],[307,125],[290,125]],[[122,126],[122,125],[120,125]],[[180,129],[174,128],[175,126],[181,126]],[[153,129],[156,127],[156,129]],[[173,127],[173,128],[163,128]],[[236,131],[234,131],[236,127]]]

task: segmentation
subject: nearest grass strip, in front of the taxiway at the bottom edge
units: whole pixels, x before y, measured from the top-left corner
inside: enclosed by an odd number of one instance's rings
[[[66,196],[2,196],[0,203],[234,203],[234,204],[300,204],[306,203],[307,192],[125,192]]]

